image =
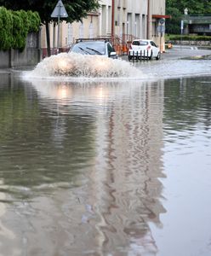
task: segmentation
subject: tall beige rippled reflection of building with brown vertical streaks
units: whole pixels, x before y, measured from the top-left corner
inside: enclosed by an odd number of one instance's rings
[[[99,117],[94,206],[100,213],[102,250],[129,248],[156,254],[149,222],[160,224],[163,82],[131,90]],[[102,120],[107,119],[106,123]],[[139,254],[140,255],[140,254]]]

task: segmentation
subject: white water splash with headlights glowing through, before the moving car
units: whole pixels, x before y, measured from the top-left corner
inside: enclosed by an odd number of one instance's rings
[[[51,78],[142,78],[139,69],[128,61],[111,59],[100,55],[60,53],[43,59],[27,77]]]

